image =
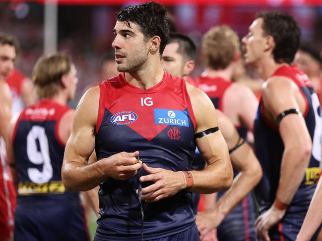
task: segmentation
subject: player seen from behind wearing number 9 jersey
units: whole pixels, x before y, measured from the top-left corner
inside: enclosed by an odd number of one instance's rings
[[[42,56],[33,76],[39,102],[13,118],[8,159],[17,183],[14,218],[16,241],[88,241],[78,192],[62,183],[64,147],[72,128],[78,79],[68,55]]]

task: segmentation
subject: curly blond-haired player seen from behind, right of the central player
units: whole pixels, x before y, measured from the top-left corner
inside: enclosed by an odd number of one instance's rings
[[[196,79],[197,85],[210,97],[214,106],[229,117],[240,136],[247,140],[248,131],[253,131],[258,101],[248,87],[231,81],[241,54],[239,38],[228,26],[217,26],[205,33],[201,46],[205,71]],[[237,176],[238,171],[234,173]],[[204,196],[205,203],[211,204],[210,208],[215,205],[212,202],[216,199],[212,195]],[[224,192],[219,192],[217,198],[223,195]],[[255,241],[256,210],[252,193],[228,215],[224,213],[216,217],[216,223],[221,223],[217,228],[219,240]]]

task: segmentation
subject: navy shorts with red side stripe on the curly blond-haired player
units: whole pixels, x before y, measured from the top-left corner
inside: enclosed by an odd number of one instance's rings
[[[221,193],[218,193],[218,198]],[[243,199],[217,228],[219,241],[256,241],[256,211],[252,193]]]

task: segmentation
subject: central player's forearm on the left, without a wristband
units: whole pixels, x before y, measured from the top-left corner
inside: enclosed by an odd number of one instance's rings
[[[91,164],[68,161],[62,168],[64,187],[68,191],[91,190],[106,180],[103,170],[100,161]]]

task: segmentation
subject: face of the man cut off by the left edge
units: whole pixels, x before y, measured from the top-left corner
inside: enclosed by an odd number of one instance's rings
[[[13,46],[0,44],[0,79],[5,79],[14,68],[16,50]]]

